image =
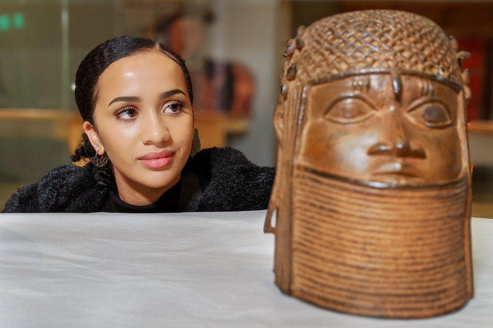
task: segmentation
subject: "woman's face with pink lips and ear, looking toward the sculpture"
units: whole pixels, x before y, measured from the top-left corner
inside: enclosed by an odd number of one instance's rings
[[[167,189],[179,180],[191,150],[193,112],[183,72],[165,54],[112,63],[97,82],[93,118],[96,129],[85,122],[84,130],[97,153],[110,158],[117,183]],[[152,152],[163,152],[162,158],[141,159]]]

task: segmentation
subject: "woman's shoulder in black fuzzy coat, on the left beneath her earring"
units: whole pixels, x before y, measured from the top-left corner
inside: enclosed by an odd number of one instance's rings
[[[91,190],[96,187],[94,169],[92,163],[83,167],[63,165],[54,168],[37,183],[18,189],[5,204],[3,212],[84,211],[89,204],[81,203],[80,197],[91,195]]]

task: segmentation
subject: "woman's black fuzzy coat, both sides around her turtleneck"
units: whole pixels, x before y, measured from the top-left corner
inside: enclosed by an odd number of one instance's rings
[[[95,177],[98,171],[90,162],[84,167],[55,168],[39,182],[20,188],[3,212],[101,211],[116,184],[114,177],[101,184]],[[275,168],[256,166],[230,147],[201,150],[183,171],[184,182],[196,181],[198,186],[188,195],[183,211],[266,209],[275,176]]]

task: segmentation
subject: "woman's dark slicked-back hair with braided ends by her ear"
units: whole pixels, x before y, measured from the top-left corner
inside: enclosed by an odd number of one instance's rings
[[[186,88],[193,102],[192,83],[185,62],[174,51],[167,49],[161,43],[143,37],[121,36],[110,39],[97,45],[82,60],[75,74],[75,102],[84,121],[88,121],[94,127],[94,107],[97,101],[96,85],[101,74],[119,59],[146,51],[159,51],[169,57],[183,71]],[[82,133],[82,141],[72,155],[72,161],[81,159],[89,160],[96,155],[89,138]],[[103,168],[96,168],[95,178],[98,184],[110,185],[114,182],[113,165],[110,161]]]

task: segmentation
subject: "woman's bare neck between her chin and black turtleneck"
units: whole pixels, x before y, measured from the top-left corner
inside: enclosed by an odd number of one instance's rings
[[[168,185],[161,188],[149,188],[125,179],[115,171],[115,181],[121,200],[132,205],[149,205],[155,203],[168,189],[180,181],[180,175]]]

